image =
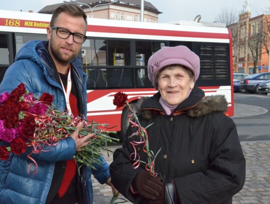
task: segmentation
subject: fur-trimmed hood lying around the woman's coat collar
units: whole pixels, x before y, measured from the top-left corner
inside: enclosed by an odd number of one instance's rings
[[[153,114],[164,114],[165,111],[158,102],[160,97],[160,93],[157,92],[152,97],[140,99],[135,106],[136,112],[147,120]],[[187,114],[190,117],[202,117],[212,112],[226,112],[227,109],[228,103],[224,95],[204,96],[203,91],[195,87],[189,97],[180,103],[172,114]]]

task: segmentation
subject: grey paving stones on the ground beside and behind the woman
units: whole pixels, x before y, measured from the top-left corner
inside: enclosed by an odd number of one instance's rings
[[[270,141],[244,141],[241,146],[246,159],[246,179],[242,190],[233,196],[232,204],[270,204]],[[118,147],[108,149],[114,151]],[[109,156],[104,151],[101,153],[111,163],[112,153]],[[111,188],[99,184],[94,177],[92,179],[94,204],[108,204],[112,197]]]

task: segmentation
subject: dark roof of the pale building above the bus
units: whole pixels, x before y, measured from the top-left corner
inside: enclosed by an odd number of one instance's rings
[[[99,4],[107,4],[110,2],[113,2],[113,4],[118,4],[118,5],[124,5],[125,7],[135,7],[135,8],[140,8],[140,3],[141,0],[78,0],[78,1],[73,1],[73,2],[77,2],[82,3],[82,7],[83,4],[87,4],[89,5],[89,7],[93,7],[95,5],[99,5]],[[73,4],[72,2],[68,2],[70,4]],[[53,5],[47,5],[44,8],[42,8],[41,10],[39,10],[37,13],[42,13],[42,14],[52,14],[53,10],[55,8],[57,8],[58,6],[62,5],[62,4],[67,4],[67,3],[60,3],[60,4],[53,4]],[[87,6],[85,6],[87,7]],[[150,10],[151,12],[157,13],[157,14],[162,14],[161,12],[159,12],[151,3],[144,1],[144,10]]]

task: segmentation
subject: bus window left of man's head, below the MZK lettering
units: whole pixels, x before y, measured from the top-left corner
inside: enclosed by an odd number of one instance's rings
[[[31,34],[31,33],[15,33],[16,53],[28,41],[31,40],[47,40],[47,35]]]

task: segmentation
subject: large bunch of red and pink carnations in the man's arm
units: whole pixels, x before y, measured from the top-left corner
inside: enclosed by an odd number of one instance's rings
[[[117,142],[118,139],[109,136],[112,131],[104,131],[99,127],[107,124],[99,124],[96,122],[88,122],[84,117],[69,116],[67,112],[57,110],[52,105],[53,95],[43,93],[38,97],[29,93],[25,89],[24,84],[19,84],[10,94],[4,92],[0,95],[0,159],[7,160],[10,152],[20,155],[25,153],[27,148],[31,148],[27,154],[32,163],[28,166],[35,165],[37,171],[37,163],[31,157],[31,154],[38,154],[42,151],[49,151],[44,147],[49,146],[50,149],[57,145],[61,139],[66,139],[76,130],[79,122],[83,123],[83,127],[79,131],[79,136],[83,137],[90,133],[95,136],[90,138],[91,141],[87,146],[82,147],[82,151],[78,151],[74,155],[74,159],[81,165],[90,166],[100,163],[100,148],[107,149],[107,144]]]

